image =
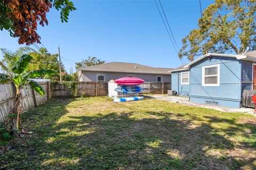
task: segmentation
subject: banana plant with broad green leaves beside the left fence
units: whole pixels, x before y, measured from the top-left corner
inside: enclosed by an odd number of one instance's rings
[[[7,117],[6,126],[7,129],[19,129],[20,128],[20,119],[22,113],[21,106],[21,89],[27,85],[29,85],[32,89],[34,89],[38,94],[45,95],[44,89],[38,84],[36,81],[31,80],[29,78],[37,78],[42,77],[42,75],[53,75],[56,72],[52,70],[35,70],[27,73],[26,68],[33,57],[30,55],[22,55],[19,61],[12,69],[8,69],[3,63],[0,62],[0,66],[5,71],[5,73],[0,73],[0,84],[12,82],[15,86],[15,97],[14,97],[14,106],[9,113],[9,117]],[[12,115],[12,116],[10,116]]]

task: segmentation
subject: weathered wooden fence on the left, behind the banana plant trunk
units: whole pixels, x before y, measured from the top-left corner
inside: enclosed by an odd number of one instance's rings
[[[42,88],[45,90],[46,95],[41,96],[37,94],[30,86],[21,89],[23,112],[44,104],[47,100],[51,99],[50,82],[39,82],[39,84],[41,84]],[[12,83],[0,84],[0,122],[5,120],[14,105],[15,91],[16,89]]]

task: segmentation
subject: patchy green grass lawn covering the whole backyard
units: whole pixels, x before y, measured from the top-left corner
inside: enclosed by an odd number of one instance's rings
[[[256,117],[147,99],[53,99],[22,114],[3,169],[256,169]]]

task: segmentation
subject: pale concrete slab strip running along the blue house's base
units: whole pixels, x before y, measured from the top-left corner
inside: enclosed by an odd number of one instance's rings
[[[254,112],[253,108],[246,108],[246,107],[242,107],[242,108],[229,108],[229,107],[223,107],[223,106],[214,106],[214,105],[207,105],[207,104],[192,103],[192,102],[190,102],[188,100],[187,97],[178,97],[178,96],[153,95],[151,97],[154,97],[155,99],[158,99],[158,100],[169,101],[171,103],[184,104],[184,105],[187,105],[187,106],[196,106],[196,107],[202,107],[202,108],[210,108],[210,109],[214,109],[216,111],[228,112],[228,113],[232,113],[232,112],[246,112],[246,114],[252,114],[252,115],[256,116],[256,114],[253,114],[253,112]]]

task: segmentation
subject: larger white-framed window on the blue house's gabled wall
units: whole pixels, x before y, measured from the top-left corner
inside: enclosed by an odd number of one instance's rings
[[[220,86],[220,64],[202,67],[202,86]]]

